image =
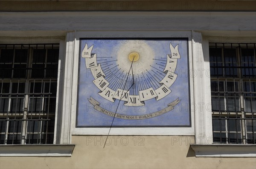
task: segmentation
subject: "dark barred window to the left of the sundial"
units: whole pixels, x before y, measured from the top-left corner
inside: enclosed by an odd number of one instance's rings
[[[0,45],[0,144],[53,144],[59,44]]]

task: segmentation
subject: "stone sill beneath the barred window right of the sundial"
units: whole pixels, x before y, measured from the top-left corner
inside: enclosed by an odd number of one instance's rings
[[[196,157],[256,157],[253,144],[191,144]]]

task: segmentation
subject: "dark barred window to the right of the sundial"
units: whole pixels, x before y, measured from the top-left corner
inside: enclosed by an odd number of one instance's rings
[[[212,134],[221,144],[256,144],[256,44],[209,43]]]

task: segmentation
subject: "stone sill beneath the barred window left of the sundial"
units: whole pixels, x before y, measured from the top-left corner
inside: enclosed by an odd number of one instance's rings
[[[70,157],[74,144],[0,145],[0,157]]]

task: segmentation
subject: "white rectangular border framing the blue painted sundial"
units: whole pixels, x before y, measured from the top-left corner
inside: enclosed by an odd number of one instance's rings
[[[72,135],[108,135],[109,128],[76,128],[76,111],[77,111],[77,88],[79,73],[79,39],[86,37],[187,37],[188,41],[188,57],[192,60],[192,33],[191,31],[76,31],[74,36],[74,69],[73,69],[73,95],[72,95]],[[71,62],[71,61],[70,61]],[[189,69],[192,68],[192,62],[189,62]],[[188,72],[189,74],[189,72]],[[190,100],[193,102],[193,79],[189,76]],[[191,110],[191,127],[115,127],[111,128],[110,135],[195,135],[194,111]]]

